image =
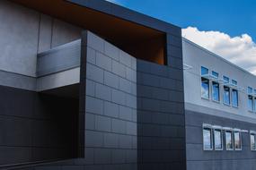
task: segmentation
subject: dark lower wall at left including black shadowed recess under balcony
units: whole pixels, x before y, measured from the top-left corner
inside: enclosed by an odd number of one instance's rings
[[[1,167],[76,156],[77,100],[3,86],[0,94]]]

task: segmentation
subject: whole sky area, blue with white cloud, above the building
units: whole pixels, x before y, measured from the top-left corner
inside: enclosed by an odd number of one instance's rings
[[[109,1],[177,25],[183,37],[256,74],[256,0]]]

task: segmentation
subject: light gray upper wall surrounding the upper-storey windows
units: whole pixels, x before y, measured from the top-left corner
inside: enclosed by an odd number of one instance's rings
[[[231,114],[256,118],[256,113],[249,112],[247,106],[247,87],[250,86],[253,89],[256,89],[256,77],[254,75],[252,75],[250,72],[244,71],[234,64],[229,63],[224,58],[195,45],[185,38],[182,40],[182,46],[183,64],[188,64],[192,67],[189,70],[184,70],[184,93],[186,109],[190,109],[190,104],[193,104],[196,106],[214,108]],[[239,91],[238,108],[233,106],[226,106],[223,104],[223,85],[220,85],[220,103],[216,103],[211,99],[207,100],[201,98],[201,66],[207,67],[209,72],[218,72],[220,79],[222,79],[223,75],[229,77],[230,81],[234,79],[238,82],[239,87],[243,87],[243,89],[245,89],[244,91]]]

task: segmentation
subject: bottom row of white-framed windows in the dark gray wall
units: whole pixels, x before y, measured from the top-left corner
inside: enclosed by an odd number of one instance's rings
[[[225,139],[226,150],[242,150],[242,132],[248,131],[203,124],[203,149],[223,150]],[[255,138],[256,132],[251,131],[251,150],[256,150]]]

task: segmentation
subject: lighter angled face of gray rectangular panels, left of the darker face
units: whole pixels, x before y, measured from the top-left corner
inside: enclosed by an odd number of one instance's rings
[[[91,32],[86,51],[85,169],[137,169],[136,58]]]

